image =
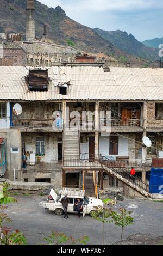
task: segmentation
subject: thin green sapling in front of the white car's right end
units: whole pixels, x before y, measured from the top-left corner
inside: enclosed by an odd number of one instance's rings
[[[105,223],[113,222],[109,219],[112,216],[112,209],[107,209],[101,205],[93,207],[95,208],[95,211],[92,212],[91,217],[97,221],[102,222],[102,243],[105,245]]]

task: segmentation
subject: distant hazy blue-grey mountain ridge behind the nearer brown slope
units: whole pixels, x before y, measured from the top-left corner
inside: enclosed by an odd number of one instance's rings
[[[111,42],[114,46],[120,48],[120,50],[135,55],[137,57],[142,57],[145,59],[153,59],[153,56],[158,56],[156,49],[147,47],[135,39],[132,34],[117,31],[104,31],[99,28],[94,29],[97,34],[99,34],[103,39]],[[156,55],[157,54],[157,55]]]

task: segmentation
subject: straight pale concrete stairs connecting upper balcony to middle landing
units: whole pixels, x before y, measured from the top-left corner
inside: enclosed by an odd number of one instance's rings
[[[65,129],[64,130],[64,161],[65,160],[79,160],[79,131],[77,129]]]

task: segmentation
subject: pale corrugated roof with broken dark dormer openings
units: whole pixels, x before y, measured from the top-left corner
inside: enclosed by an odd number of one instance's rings
[[[29,68],[0,66],[0,100],[163,100],[163,69],[115,68],[110,72],[93,66],[48,68],[47,92],[30,92],[25,76]],[[57,85],[71,80],[68,94]]]

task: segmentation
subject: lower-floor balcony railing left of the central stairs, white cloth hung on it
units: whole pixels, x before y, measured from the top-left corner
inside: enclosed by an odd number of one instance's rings
[[[52,171],[52,170],[57,170],[59,168],[62,168],[62,162],[58,160],[53,160],[53,161],[27,161],[27,166],[26,168],[23,168],[23,163],[22,163],[22,169],[23,170],[37,170],[37,171]]]

